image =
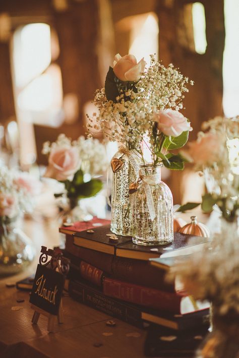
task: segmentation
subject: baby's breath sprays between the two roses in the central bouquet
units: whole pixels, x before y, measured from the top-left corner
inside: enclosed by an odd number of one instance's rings
[[[116,102],[108,100],[105,88],[96,91],[94,103],[99,114],[89,118],[88,131],[105,133],[112,141],[139,148],[145,133],[153,144],[154,112],[160,109],[183,108],[184,93],[188,92],[189,79],[170,64],[167,68],[151,55],[148,70],[133,88],[123,88]],[[190,81],[193,85],[193,81]]]

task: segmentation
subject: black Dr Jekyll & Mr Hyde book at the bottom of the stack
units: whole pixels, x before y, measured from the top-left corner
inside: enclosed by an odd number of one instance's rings
[[[154,310],[107,297],[100,289],[85,281],[70,280],[69,295],[82,304],[135,326],[143,327],[145,321],[174,330],[209,325],[208,309],[183,315]]]

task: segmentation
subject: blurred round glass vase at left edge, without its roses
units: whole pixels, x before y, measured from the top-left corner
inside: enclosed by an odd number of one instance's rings
[[[34,259],[35,248],[20,226],[19,218],[0,225],[0,277],[21,272]]]

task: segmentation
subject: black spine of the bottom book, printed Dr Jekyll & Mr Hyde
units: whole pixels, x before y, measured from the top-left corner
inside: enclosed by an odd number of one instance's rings
[[[141,311],[106,297],[82,282],[70,280],[69,295],[76,301],[137,327],[143,327]]]

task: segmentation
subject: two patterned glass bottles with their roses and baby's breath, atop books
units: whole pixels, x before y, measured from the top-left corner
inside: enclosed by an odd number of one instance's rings
[[[192,130],[179,112],[189,79],[172,64],[166,68],[154,55],[150,57],[145,70],[143,58],[137,64],[133,55],[115,56],[105,87],[96,91],[99,114],[89,118],[88,129],[101,130],[107,139],[121,143],[111,161],[111,230],[133,235],[136,244],[163,245],[173,240],[173,213],[160,166],[184,168],[186,159],[170,151],[184,146]],[[145,162],[144,146],[151,152],[151,163]],[[130,192],[135,192],[132,205]]]

